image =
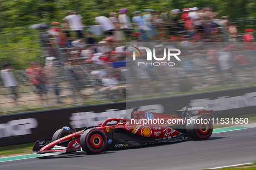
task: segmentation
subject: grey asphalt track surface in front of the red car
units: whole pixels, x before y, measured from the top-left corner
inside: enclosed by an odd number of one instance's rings
[[[175,142],[87,155],[58,154],[0,162],[1,170],[201,170],[256,161],[256,128],[214,133],[204,141]]]

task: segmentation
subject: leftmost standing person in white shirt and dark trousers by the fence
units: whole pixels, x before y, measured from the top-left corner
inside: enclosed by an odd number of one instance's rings
[[[18,94],[17,94],[17,82],[13,75],[13,69],[11,63],[5,63],[4,69],[1,70],[1,77],[3,79],[3,83],[6,87],[10,88],[10,91],[13,94],[14,104],[18,107]],[[19,109],[17,109],[19,110]]]

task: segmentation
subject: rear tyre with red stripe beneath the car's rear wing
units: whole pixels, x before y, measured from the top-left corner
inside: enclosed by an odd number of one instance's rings
[[[192,140],[204,140],[211,136],[213,125],[208,117],[193,116],[189,120],[191,121],[186,127],[189,138]]]

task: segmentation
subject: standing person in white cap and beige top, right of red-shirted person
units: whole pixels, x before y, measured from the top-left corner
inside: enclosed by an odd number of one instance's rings
[[[58,69],[54,66],[54,60],[57,60],[55,57],[46,57],[45,58],[45,76],[49,85],[49,88],[54,89],[54,93],[56,96],[56,103],[62,104],[63,102],[59,100],[59,85],[58,85]]]

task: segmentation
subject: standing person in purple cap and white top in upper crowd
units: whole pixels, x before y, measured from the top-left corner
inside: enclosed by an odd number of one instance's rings
[[[130,17],[128,16],[128,9],[120,9],[119,10],[120,15],[118,16],[118,20],[120,23],[120,29],[122,29],[125,32],[126,37],[128,38],[128,41],[130,41],[130,36],[132,34],[132,23],[130,20]]]

